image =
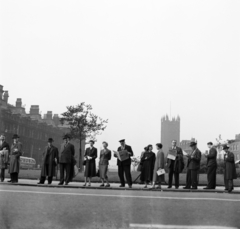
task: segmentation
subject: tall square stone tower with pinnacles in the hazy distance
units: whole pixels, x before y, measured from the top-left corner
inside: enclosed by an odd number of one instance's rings
[[[172,140],[180,142],[180,117],[170,119],[168,115],[161,119],[161,143],[166,154],[171,147]]]

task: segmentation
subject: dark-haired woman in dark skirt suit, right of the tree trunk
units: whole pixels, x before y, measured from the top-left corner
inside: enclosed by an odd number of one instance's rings
[[[96,158],[97,158],[97,149],[93,147],[94,141],[89,141],[90,147],[86,149],[84,157],[86,159],[86,167],[85,167],[85,184],[86,186],[87,179],[88,179],[88,186],[91,186],[91,179],[92,177],[96,176]]]

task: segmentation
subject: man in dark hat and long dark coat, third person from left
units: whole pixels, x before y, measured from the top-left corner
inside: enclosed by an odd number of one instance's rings
[[[44,184],[48,177],[48,184],[52,183],[52,179],[56,176],[56,166],[58,164],[58,149],[53,146],[53,139],[48,139],[48,145],[45,147],[42,155],[42,170],[38,184]]]

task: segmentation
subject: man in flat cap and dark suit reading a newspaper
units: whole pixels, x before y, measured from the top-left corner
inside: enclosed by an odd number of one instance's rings
[[[119,142],[121,146],[118,147],[117,151],[120,152],[120,151],[126,150],[129,155],[129,158],[124,161],[120,161],[119,159],[117,159],[118,176],[121,182],[120,187],[125,187],[125,179],[124,179],[124,173],[125,173],[128,186],[129,188],[132,188],[132,176],[131,176],[131,162],[132,162],[131,157],[133,156],[132,147],[125,144],[125,139],[120,140]],[[117,155],[114,154],[114,157],[117,157]]]

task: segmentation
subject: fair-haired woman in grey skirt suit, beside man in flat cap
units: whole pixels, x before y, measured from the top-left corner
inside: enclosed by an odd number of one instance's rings
[[[104,186],[104,180],[106,181],[106,186],[105,187],[110,187],[110,184],[108,182],[108,177],[107,177],[107,171],[108,171],[108,165],[109,165],[109,160],[111,160],[112,154],[111,151],[107,148],[108,143],[103,142],[103,149],[100,152],[100,160],[99,160],[99,175],[102,180],[102,184],[100,187]]]

